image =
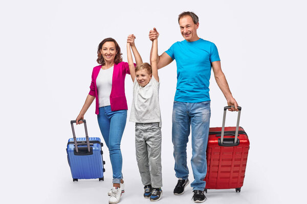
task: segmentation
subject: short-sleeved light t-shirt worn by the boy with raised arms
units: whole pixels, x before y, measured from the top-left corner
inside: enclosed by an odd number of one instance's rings
[[[159,105],[159,87],[160,83],[157,82],[153,76],[144,87],[141,87],[137,79],[135,79],[130,122],[159,122],[159,126],[162,126]]]

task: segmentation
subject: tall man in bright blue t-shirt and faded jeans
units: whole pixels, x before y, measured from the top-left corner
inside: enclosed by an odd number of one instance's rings
[[[189,184],[186,147],[191,126],[191,166],[194,176],[194,181],[191,183],[194,193],[192,199],[194,202],[204,202],[206,200],[204,178],[207,173],[206,149],[210,121],[211,67],[215,81],[222,90],[228,106],[234,106],[230,111],[238,111],[238,104],[230,92],[215,44],[197,35],[198,16],[193,12],[183,12],[179,15],[178,22],[185,40],[174,43],[161,56],[157,56],[159,69],[175,59],[177,63],[177,90],[172,113],[172,143],[175,159],[174,170],[178,183],[173,193],[183,194],[184,188]],[[155,28],[149,32],[151,41],[158,36],[159,33]],[[152,55],[152,50],[150,55]]]

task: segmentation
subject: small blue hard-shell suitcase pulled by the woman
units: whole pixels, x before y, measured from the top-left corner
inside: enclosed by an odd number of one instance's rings
[[[85,129],[85,138],[76,138],[74,123],[71,121],[73,138],[68,140],[67,158],[72,172],[73,181],[78,179],[99,179],[103,181],[103,165],[101,147],[103,144],[99,137],[90,137],[87,135],[86,121],[82,120]]]

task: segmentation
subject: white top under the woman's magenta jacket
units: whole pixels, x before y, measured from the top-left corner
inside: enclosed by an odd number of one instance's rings
[[[112,90],[113,68],[100,69],[96,79],[99,107],[111,106],[110,94]]]

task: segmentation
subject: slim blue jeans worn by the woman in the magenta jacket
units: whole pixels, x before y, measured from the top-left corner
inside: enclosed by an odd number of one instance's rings
[[[127,110],[111,111],[111,106],[100,107],[97,119],[102,137],[109,150],[113,183],[120,184],[123,178],[120,141],[126,125]]]

